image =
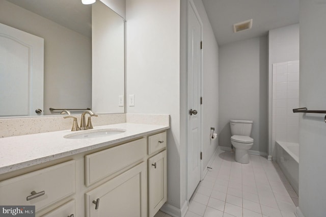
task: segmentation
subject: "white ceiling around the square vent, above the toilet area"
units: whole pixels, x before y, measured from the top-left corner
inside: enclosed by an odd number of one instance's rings
[[[219,45],[266,35],[299,22],[300,0],[202,0]],[[250,30],[233,33],[233,24],[253,19]]]

